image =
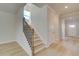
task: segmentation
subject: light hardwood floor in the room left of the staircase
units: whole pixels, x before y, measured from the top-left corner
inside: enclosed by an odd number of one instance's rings
[[[28,56],[17,42],[0,44],[0,56]]]

